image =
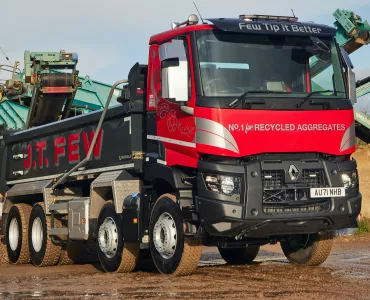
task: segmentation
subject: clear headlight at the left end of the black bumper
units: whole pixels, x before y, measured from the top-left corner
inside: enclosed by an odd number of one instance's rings
[[[227,196],[240,194],[240,178],[223,175],[205,175],[207,189]]]

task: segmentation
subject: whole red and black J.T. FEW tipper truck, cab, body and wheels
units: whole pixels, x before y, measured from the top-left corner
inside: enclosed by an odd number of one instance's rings
[[[248,263],[275,242],[321,264],[361,209],[356,83],[335,34],[292,17],[191,15],[151,37],[148,64],[112,88],[126,83],[121,105],[4,134],[10,262],[72,262],[92,239],[108,272],[150,249],[161,273],[187,275],[202,245]]]

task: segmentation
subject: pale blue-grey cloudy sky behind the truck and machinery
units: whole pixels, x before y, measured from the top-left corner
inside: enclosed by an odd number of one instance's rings
[[[337,8],[370,22],[369,0],[196,0],[203,18],[290,15],[332,25]],[[1,0],[0,46],[12,62],[23,52],[65,49],[79,55],[80,75],[113,84],[136,62],[146,63],[151,35],[195,13],[189,0]],[[370,45],[352,55],[358,78],[370,76]],[[0,53],[0,64],[5,63]],[[4,73],[0,78],[8,77]]]

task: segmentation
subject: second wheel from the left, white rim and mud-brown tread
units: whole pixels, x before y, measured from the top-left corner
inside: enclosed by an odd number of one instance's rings
[[[36,203],[29,221],[31,261],[35,266],[55,266],[60,257],[61,246],[53,243],[49,236],[51,217],[45,214],[44,204]]]

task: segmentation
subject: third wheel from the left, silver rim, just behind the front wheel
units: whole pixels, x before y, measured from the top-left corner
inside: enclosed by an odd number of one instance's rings
[[[99,214],[97,234],[98,257],[106,272],[132,272],[139,257],[139,243],[124,243],[120,224],[113,203],[106,203]]]

